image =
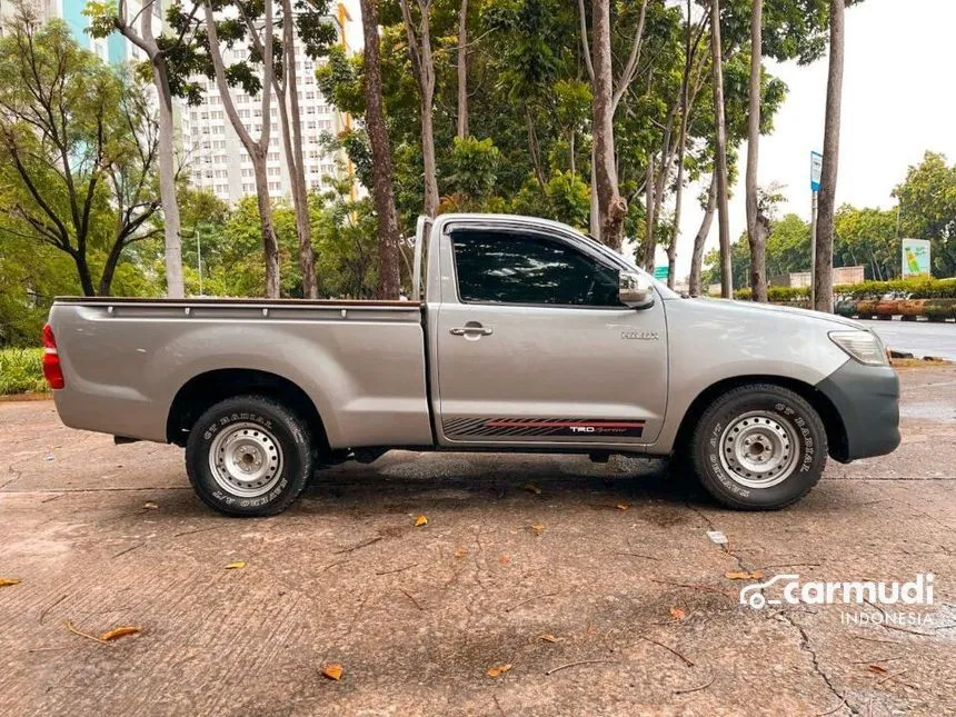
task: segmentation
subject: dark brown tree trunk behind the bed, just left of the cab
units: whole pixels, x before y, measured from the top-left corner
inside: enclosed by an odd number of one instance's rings
[[[366,128],[372,159],[372,196],[378,215],[378,287],[379,299],[399,298],[398,215],[392,187],[391,148],[385,123],[381,94],[381,57],[378,38],[378,0],[360,0],[365,36],[365,102]],[[412,297],[414,301],[418,297]]]

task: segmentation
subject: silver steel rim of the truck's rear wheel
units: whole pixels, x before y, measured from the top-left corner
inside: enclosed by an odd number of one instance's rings
[[[259,424],[232,424],[212,441],[209,469],[225,491],[258,498],[275,488],[282,476],[282,447]]]

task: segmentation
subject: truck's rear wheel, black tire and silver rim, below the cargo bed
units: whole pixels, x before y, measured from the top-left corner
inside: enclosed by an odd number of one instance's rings
[[[210,461],[213,450],[217,468]],[[239,464],[250,472],[236,468]],[[263,396],[237,396],[211,406],[186,442],[189,482],[206,505],[227,516],[281,512],[306,488],[312,466],[308,424]]]

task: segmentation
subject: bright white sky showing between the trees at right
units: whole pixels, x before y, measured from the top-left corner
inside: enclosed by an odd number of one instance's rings
[[[765,0],[773,3],[775,0]],[[361,46],[358,0],[346,0],[353,22],[349,41]],[[865,0],[846,12],[837,205],[896,206],[893,189],[927,150],[956,161],[956,0]],[[810,216],[810,151],[820,150],[827,91],[827,59],[809,67],[769,63],[789,92],[774,121],[774,131],[760,141],[758,181],[784,186],[787,200],[779,215]],[[746,143],[740,157],[746,158]],[[744,167],[733,188],[730,239],[746,228]],[[689,187],[680,222],[677,276],[690,270],[690,245],[703,210]],[[689,199],[689,201],[687,201]],[[717,245],[717,221],[707,249]],[[658,263],[666,263],[663,252]]]

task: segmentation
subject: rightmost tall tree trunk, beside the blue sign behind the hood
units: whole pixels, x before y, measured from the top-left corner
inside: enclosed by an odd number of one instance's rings
[[[843,100],[844,0],[830,0],[830,58],[827,77],[827,111],[824,128],[824,166],[817,213],[816,299],[817,311],[834,310],[834,211],[839,169],[840,103]]]

